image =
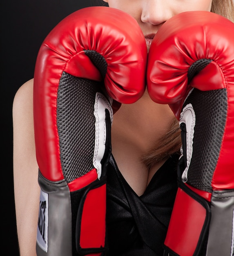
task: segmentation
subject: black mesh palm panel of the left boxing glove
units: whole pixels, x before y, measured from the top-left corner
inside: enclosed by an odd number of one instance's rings
[[[62,171],[71,182],[93,166],[94,102],[100,83],[63,72],[58,87],[57,126]]]

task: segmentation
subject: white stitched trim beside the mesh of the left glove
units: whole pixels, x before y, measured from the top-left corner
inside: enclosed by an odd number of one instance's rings
[[[97,92],[96,100],[94,104],[94,116],[96,118],[95,122],[95,148],[94,148],[94,157],[93,164],[98,173],[98,179],[101,176],[102,165],[101,160],[103,159],[103,155],[105,153],[105,142],[106,142],[106,113],[105,109],[109,110],[111,123],[113,120],[113,110],[107,98]]]

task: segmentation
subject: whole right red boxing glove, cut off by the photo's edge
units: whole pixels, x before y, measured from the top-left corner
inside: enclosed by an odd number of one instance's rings
[[[180,119],[179,188],[166,255],[234,253],[234,24],[180,13],[149,49],[147,88]]]

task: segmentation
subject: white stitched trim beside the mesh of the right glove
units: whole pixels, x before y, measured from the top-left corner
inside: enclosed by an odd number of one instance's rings
[[[183,108],[179,123],[184,123],[186,125],[187,166],[183,171],[182,180],[183,182],[187,182],[187,173],[193,153],[194,127],[196,123],[196,116],[192,104],[189,103]]]

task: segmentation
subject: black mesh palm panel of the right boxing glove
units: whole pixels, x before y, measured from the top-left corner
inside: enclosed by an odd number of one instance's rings
[[[189,103],[193,106],[196,124],[188,184],[203,191],[212,192],[212,177],[218,162],[226,124],[227,90],[194,89],[184,106]]]

